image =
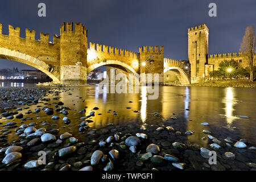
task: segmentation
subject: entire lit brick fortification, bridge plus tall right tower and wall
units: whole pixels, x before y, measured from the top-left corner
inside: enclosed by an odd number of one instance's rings
[[[188,60],[191,78],[181,61],[164,58],[164,46],[142,46],[139,52],[127,51],[96,43],[88,43],[88,30],[81,23],[63,23],[60,35],[40,32],[35,40],[35,30],[26,28],[26,37],[20,37],[20,28],[9,25],[9,35],[2,34],[0,24],[0,59],[14,60],[31,65],[46,73],[53,82],[64,85],[85,84],[89,72],[101,66],[112,67],[127,73],[157,73],[159,84],[174,73],[182,85],[199,82],[218,69],[223,60],[236,60],[246,67],[246,56],[241,52],[228,55],[208,55],[209,30],[205,24],[188,28]],[[255,56],[256,57],[256,56]],[[107,69],[109,70],[109,69]]]

